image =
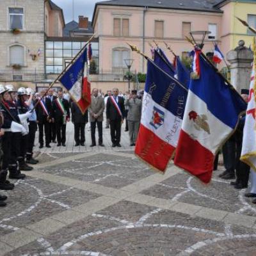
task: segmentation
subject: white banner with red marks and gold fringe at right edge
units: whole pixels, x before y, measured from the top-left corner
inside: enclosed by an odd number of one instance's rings
[[[252,76],[250,83],[248,106],[246,110],[246,118],[243,132],[243,146],[241,153],[241,161],[250,165],[253,170],[256,171],[256,104],[255,104],[255,93],[256,93],[256,45],[252,45],[254,52],[254,61],[252,68]]]

